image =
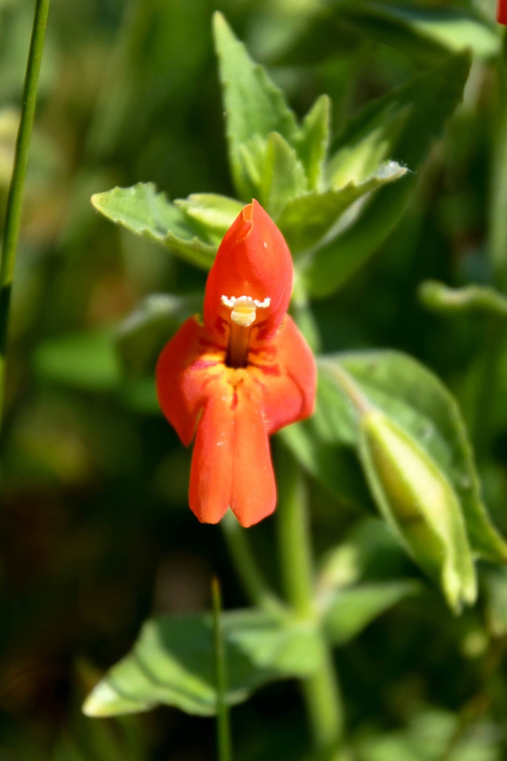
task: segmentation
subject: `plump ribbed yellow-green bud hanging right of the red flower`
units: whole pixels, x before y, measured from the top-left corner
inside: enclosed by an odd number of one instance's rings
[[[477,579],[461,505],[444,473],[399,425],[377,409],[360,423],[360,456],[385,520],[410,556],[459,613]]]

